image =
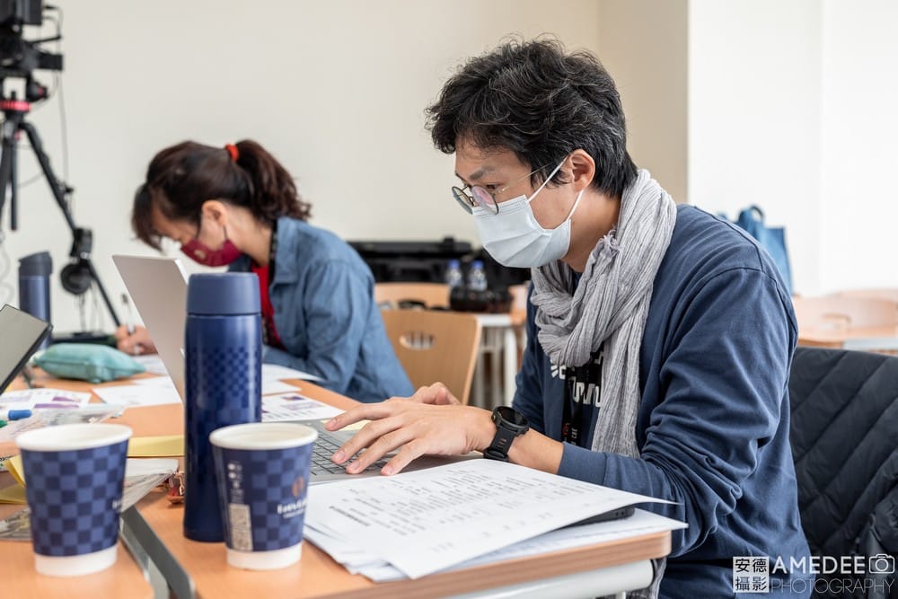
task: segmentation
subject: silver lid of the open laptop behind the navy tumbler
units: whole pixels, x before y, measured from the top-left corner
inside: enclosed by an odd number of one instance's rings
[[[114,255],[112,261],[183,400],[187,271],[176,258]]]

